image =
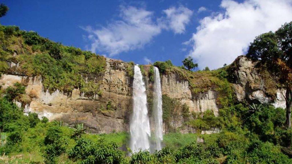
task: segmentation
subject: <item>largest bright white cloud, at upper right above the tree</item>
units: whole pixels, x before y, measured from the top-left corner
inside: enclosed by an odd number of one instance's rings
[[[200,20],[193,34],[191,55],[200,68],[211,69],[230,64],[244,55],[255,36],[275,31],[292,20],[291,0],[223,0],[223,13],[212,13]]]

